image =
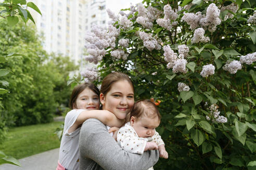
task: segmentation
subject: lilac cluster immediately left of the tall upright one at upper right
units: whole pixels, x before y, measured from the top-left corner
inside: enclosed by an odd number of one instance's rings
[[[198,27],[201,18],[202,13],[199,11],[197,13],[184,13],[182,20],[190,25],[191,30],[195,30]]]

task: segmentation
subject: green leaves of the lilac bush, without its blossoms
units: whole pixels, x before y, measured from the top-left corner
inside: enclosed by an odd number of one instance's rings
[[[129,29],[127,25],[122,25],[122,21],[116,21],[113,25],[120,29],[115,41],[116,47],[106,48],[99,72],[101,77],[112,71],[126,73],[134,82],[137,100],[151,97],[161,100],[158,107],[162,120],[157,131],[165,141],[169,159],[160,159],[155,168],[255,169],[255,64],[244,63],[235,74],[223,69],[227,61],[239,60],[238,56],[256,51],[256,26],[247,23],[256,8],[255,1],[143,2],[146,8],[151,6],[161,11],[167,4],[170,4],[172,9],[187,4],[191,5],[191,8],[181,8],[177,12],[177,25],[173,25],[170,31],[158,25],[156,20],[152,22],[151,28],[145,29],[136,21],[138,11],[128,17],[132,21]],[[211,3],[216,4],[219,9],[236,3],[238,10],[235,13],[231,10],[222,11],[221,23],[216,26],[216,31],[210,32],[206,29],[204,36],[209,37],[210,41],[192,44],[195,30],[191,30],[181,18],[186,12],[201,11],[206,14]],[[234,17],[225,20],[229,13]],[[163,14],[160,18],[163,18]],[[173,69],[168,69],[163,48],[148,50],[138,31],[157,35],[162,41],[161,47],[170,45],[176,53],[178,45],[187,45],[187,73],[173,73]],[[118,42],[122,38],[129,39],[128,48],[119,45]],[[127,60],[111,56],[111,51],[116,49],[129,53]],[[202,77],[202,66],[207,64],[215,67],[215,73]],[[188,84],[190,90],[179,92],[178,82]],[[206,105],[206,102],[209,105]],[[206,119],[206,116],[211,118],[209,106],[212,104],[219,107],[219,114],[227,118],[227,123]]]

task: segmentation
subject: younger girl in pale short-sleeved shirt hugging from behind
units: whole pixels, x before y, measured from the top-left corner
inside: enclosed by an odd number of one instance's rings
[[[76,86],[69,105],[72,110],[65,118],[57,170],[79,169],[79,133],[81,124],[86,119],[96,118],[108,126],[121,126],[124,122],[122,117],[118,119],[107,110],[97,110],[99,90],[94,84],[84,83]]]

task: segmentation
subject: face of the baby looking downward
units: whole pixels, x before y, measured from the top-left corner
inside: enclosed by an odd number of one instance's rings
[[[134,121],[132,117],[130,123],[139,137],[152,137],[160,121],[158,117],[149,118],[142,116],[140,119],[135,119]]]

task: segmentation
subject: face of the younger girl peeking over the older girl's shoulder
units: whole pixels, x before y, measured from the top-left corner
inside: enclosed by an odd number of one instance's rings
[[[99,109],[99,96],[89,88],[84,89],[75,100],[75,109]]]

